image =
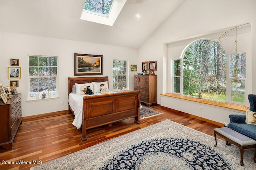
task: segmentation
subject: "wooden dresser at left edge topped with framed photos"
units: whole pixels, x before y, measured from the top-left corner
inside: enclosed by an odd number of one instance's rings
[[[21,123],[21,93],[14,95],[5,104],[0,101],[0,146],[6,150],[12,149],[14,137]]]

